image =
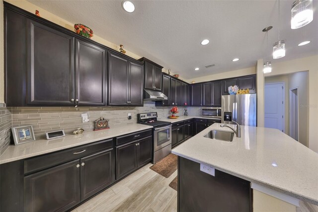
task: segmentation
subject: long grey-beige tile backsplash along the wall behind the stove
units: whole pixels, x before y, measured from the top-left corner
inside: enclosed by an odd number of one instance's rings
[[[178,107],[178,115],[183,115],[184,107]],[[189,115],[200,115],[201,107],[187,107]],[[66,134],[81,127],[93,130],[93,121],[103,116],[109,119],[110,127],[137,123],[137,114],[158,112],[158,117],[170,115],[171,107],[156,107],[155,102],[145,101],[144,106],[84,107],[12,107],[12,126],[32,125],[35,136],[44,138],[46,132],[64,129]],[[87,113],[89,121],[82,123],[81,114]],[[132,119],[128,119],[131,113]]]

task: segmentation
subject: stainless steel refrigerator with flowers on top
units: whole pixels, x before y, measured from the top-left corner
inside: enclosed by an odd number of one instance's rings
[[[222,96],[222,123],[256,126],[256,94]]]

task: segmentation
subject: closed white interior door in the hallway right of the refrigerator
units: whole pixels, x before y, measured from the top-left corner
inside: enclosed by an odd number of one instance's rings
[[[284,84],[265,85],[265,127],[284,132]]]

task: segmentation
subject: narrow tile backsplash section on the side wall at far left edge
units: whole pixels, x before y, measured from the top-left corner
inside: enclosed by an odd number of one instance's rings
[[[10,107],[0,107],[0,154],[11,141],[12,113]]]

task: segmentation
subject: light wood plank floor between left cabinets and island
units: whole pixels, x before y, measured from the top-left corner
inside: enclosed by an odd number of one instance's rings
[[[148,164],[116,183],[73,212],[176,212],[177,192],[169,178],[154,172]]]

